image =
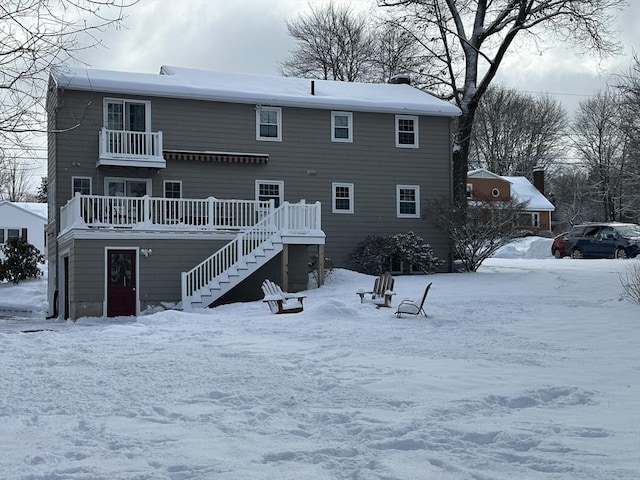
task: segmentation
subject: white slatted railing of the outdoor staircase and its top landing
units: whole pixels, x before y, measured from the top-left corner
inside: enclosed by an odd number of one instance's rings
[[[272,202],[272,201],[271,201]],[[275,235],[283,232],[318,231],[321,229],[320,202],[297,204],[284,202],[188,272],[182,273],[182,307],[188,309],[193,295],[204,289],[216,277],[233,268],[240,260],[253,254]]]

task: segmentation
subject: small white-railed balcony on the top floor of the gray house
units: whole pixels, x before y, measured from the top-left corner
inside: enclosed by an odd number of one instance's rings
[[[162,132],[100,130],[98,166],[165,168]]]

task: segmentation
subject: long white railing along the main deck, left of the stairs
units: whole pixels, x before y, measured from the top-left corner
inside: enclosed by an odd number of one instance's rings
[[[77,193],[60,210],[68,228],[244,230],[274,210],[273,201],[103,197]]]

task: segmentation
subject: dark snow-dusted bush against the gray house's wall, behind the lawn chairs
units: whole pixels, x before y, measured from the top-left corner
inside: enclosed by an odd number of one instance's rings
[[[396,264],[413,266],[423,273],[434,273],[444,264],[434,254],[431,245],[414,232],[366,237],[348,255],[347,261],[358,271],[369,275],[388,272]]]

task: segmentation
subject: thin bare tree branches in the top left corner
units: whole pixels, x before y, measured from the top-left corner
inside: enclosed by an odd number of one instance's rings
[[[30,136],[45,130],[42,99],[51,68],[100,44],[99,33],[118,25],[124,8],[136,2],[0,2],[0,148],[5,152],[28,150]],[[16,168],[11,158],[0,157],[0,179],[3,171]]]

